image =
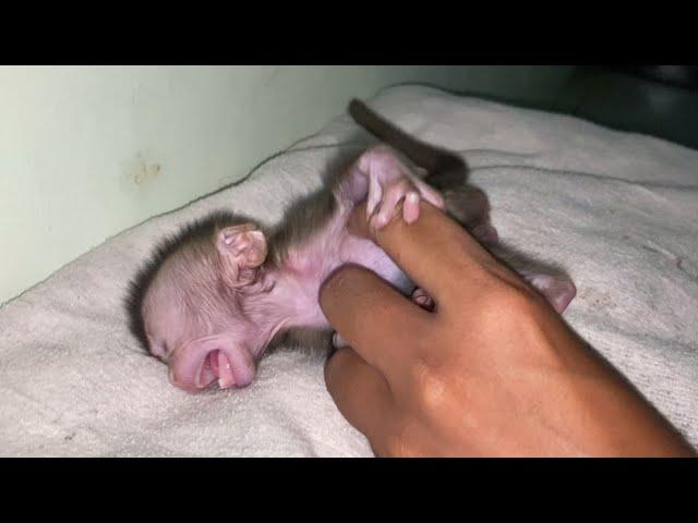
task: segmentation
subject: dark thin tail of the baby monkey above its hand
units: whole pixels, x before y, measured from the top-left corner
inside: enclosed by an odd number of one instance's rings
[[[429,175],[424,181],[435,188],[453,187],[468,179],[468,166],[462,158],[410,136],[364,102],[352,99],[349,102],[349,114],[378,139],[402,151],[419,167],[426,169]]]

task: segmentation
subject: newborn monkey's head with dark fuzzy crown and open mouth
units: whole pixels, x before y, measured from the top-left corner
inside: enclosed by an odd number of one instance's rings
[[[252,221],[215,212],[158,245],[130,284],[131,330],[194,392],[244,387],[276,326],[264,296],[274,287],[267,241]]]

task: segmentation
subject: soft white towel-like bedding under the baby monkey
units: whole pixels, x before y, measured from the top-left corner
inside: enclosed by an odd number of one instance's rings
[[[465,156],[501,238],[568,268],[569,324],[696,446],[698,151],[425,87],[371,105]],[[0,454],[371,455],[325,391],[322,354],[280,351],[248,389],[190,396],[144,355],[121,306],[164,233],[220,207],[270,223],[371,139],[338,118],[244,183],[123,232],[3,306]]]

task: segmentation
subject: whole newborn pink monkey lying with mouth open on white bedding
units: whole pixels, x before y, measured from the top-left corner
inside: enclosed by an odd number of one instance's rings
[[[422,199],[446,209],[557,312],[575,296],[575,285],[561,271],[497,245],[488,198],[466,183],[466,163],[458,156],[418,142],[357,100],[349,112],[384,144],[294,205],[274,230],[216,212],[166,240],[131,282],[131,330],[167,363],[174,386],[190,392],[244,387],[269,345],[299,337],[305,343],[326,342],[332,327],[320,308],[318,290],[342,265],[366,267],[433,309],[431,297],[414,289],[380,247],[347,231],[352,209],[364,200],[366,219],[376,228],[396,211],[413,222]],[[320,336],[309,339],[308,332]]]

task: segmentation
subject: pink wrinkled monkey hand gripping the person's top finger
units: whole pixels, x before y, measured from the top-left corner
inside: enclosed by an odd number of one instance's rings
[[[445,208],[443,196],[420,180],[418,170],[397,150],[377,145],[361,155],[342,186],[352,202],[366,199],[366,221],[374,229],[385,227],[399,210],[400,203],[402,219],[412,223],[419,218],[422,199]]]

